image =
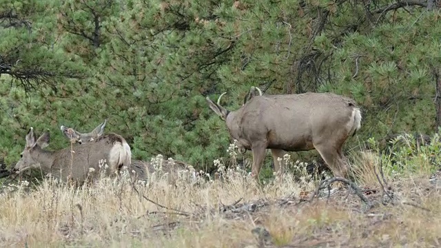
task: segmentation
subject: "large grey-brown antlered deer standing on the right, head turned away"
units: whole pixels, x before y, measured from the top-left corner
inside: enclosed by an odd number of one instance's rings
[[[206,97],[209,107],[238,141],[239,152],[251,150],[252,176],[258,178],[266,149],[271,149],[276,172],[286,151],[316,149],[334,176],[347,176],[342,146],[360,130],[361,114],[353,99],[332,93],[256,95],[236,111]]]

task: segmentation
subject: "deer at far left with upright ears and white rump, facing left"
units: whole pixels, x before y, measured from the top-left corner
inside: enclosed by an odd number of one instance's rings
[[[44,174],[51,174],[54,178],[64,181],[71,178],[81,185],[89,176],[92,176],[92,179],[99,176],[99,163],[103,159],[110,167],[107,171],[108,176],[113,176],[123,166],[130,166],[130,147],[118,134],[103,135],[93,143],[73,145],[58,151],[44,149],[49,145],[49,132],[44,132],[37,139],[33,128],[30,127],[25,139],[25,149],[13,168],[17,174],[26,169],[39,168]]]

